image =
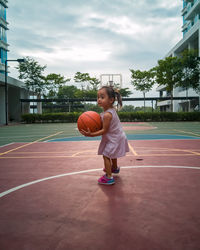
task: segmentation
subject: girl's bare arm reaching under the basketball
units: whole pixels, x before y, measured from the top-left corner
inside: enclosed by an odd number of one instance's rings
[[[81,134],[83,134],[84,136],[90,136],[90,137],[103,135],[103,134],[108,132],[111,120],[112,120],[112,114],[110,112],[107,112],[104,114],[104,117],[103,117],[103,128],[102,129],[100,129],[96,132],[91,132],[88,128],[87,131],[81,130]]]

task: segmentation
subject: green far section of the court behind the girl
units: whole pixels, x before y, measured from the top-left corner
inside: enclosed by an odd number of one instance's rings
[[[123,123],[123,127],[130,140],[149,139],[149,135],[154,135],[153,139],[155,135],[171,136],[169,139],[173,138],[173,135],[178,136],[177,139],[200,138],[200,122],[132,122]],[[19,124],[0,127],[0,146],[14,142],[59,141],[71,137],[82,137],[76,123]]]

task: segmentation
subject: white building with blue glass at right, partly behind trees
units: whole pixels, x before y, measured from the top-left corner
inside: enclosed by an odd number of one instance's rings
[[[200,56],[200,0],[183,0],[183,38],[167,53],[166,57],[178,56],[185,49],[195,49]],[[159,86],[157,91],[160,96],[169,96],[165,86]],[[173,90],[174,97],[199,96],[193,89],[187,92],[183,88],[175,88]],[[161,101],[157,104],[161,111],[171,111],[171,101]],[[176,100],[173,101],[173,111],[193,111],[199,109],[198,98],[194,100]]]

